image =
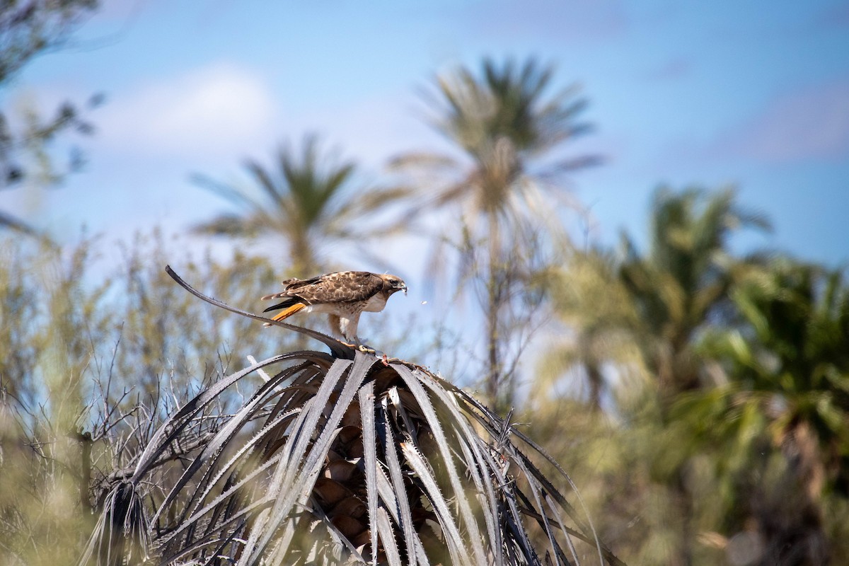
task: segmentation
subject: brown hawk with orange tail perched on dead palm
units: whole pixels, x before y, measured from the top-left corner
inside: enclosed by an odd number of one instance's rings
[[[267,294],[262,300],[283,299],[265,311],[278,312],[272,320],[282,321],[295,312],[323,312],[330,327],[349,342],[360,345],[357,323],[360,313],[380,312],[393,293],[407,293],[401,277],[369,272],[335,272],[312,279],[286,279],[282,293]]]

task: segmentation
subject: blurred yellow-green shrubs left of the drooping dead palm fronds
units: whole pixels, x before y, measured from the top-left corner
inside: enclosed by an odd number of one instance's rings
[[[108,268],[96,248],[0,247],[0,547],[11,563],[76,560],[91,509],[151,427],[231,363],[291,344],[174,289],[159,237]],[[185,261],[208,292],[241,304],[277,284],[264,260]]]

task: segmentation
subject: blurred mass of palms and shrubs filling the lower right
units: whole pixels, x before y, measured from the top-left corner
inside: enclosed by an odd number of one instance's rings
[[[534,434],[630,561],[846,553],[849,289],[841,272],[731,254],[747,224],[766,226],[733,193],[661,189],[644,254],[623,237],[621,258],[576,254],[554,279],[569,335],[543,357]],[[565,376],[588,381],[589,406],[559,396]]]

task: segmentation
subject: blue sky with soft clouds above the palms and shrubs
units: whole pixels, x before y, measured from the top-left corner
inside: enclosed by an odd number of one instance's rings
[[[447,148],[417,89],[487,55],[535,55],[582,86],[595,131],[567,150],[607,159],[571,179],[592,238],[639,240],[661,182],[734,183],[775,227],[741,248],[849,259],[846,1],[106,1],[0,93],[47,111],[104,92],[85,171],[0,204],[59,238],[181,233],[227,208],[191,173],[238,182],[245,157],[305,132],[377,179],[393,155]]]

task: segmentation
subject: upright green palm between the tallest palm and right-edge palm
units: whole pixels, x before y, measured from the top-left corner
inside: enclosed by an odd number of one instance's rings
[[[734,257],[728,237],[739,227],[768,228],[734,204],[734,190],[655,192],[649,249],[640,255],[627,235],[618,277],[637,311],[633,338],[662,398],[700,387],[694,340],[706,325],[729,322],[728,292],[735,277],[762,260]]]

